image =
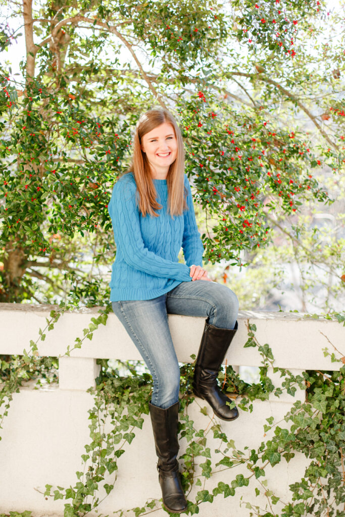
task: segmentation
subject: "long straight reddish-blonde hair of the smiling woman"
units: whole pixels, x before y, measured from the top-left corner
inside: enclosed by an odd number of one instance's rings
[[[139,210],[143,216],[149,214],[158,217],[155,210],[161,208],[161,205],[156,201],[157,192],[151,170],[140,144],[146,133],[164,124],[164,122],[172,125],[177,140],[177,156],[170,165],[167,175],[168,211],[171,216],[182,215],[183,210],[187,208],[186,192],[184,191],[185,151],[181,131],[175,118],[168,110],[154,108],[143,113],[138,120],[136,133],[134,134],[133,157],[129,168],[125,172],[125,174],[129,172],[134,174],[139,194]]]

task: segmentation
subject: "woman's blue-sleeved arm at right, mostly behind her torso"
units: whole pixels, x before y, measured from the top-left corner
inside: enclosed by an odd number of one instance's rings
[[[193,199],[190,190],[188,177],[185,174],[185,187],[188,190],[187,194],[187,206],[188,210],[184,211],[184,222],[185,227],[183,231],[182,248],[185,255],[187,266],[192,264],[202,267],[202,255],[204,253],[204,247],[200,237],[200,233],[197,226],[197,221],[194,212]]]

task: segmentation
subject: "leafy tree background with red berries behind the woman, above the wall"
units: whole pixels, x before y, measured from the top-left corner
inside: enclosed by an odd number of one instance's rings
[[[243,309],[339,310],[341,10],[23,6],[4,4],[5,50],[22,32],[28,54],[24,82],[3,65],[2,301],[103,304],[115,255],[107,203],[139,113],[160,104],[181,122],[211,276]]]

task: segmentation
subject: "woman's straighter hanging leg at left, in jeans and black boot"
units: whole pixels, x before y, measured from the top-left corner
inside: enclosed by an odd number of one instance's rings
[[[173,513],[181,513],[187,501],[177,462],[179,366],[168,326],[166,295],[152,300],[114,301],[112,308],[152,374],[154,389],[148,405],[158,480],[164,505]]]

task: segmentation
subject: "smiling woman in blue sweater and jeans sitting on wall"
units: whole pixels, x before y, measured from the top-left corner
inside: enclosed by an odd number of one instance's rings
[[[149,412],[163,504],[181,513],[187,501],[178,473],[179,366],[167,313],[204,316],[193,392],[223,420],[234,420],[218,371],[237,329],[238,301],[202,267],[184,147],[176,120],[153,109],[139,118],[130,168],[113,188],[109,214],[116,243],[110,281],[112,309],[153,377]],[[185,264],[178,262],[183,248]]]

